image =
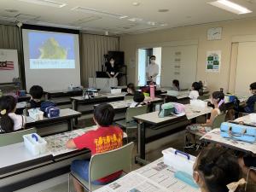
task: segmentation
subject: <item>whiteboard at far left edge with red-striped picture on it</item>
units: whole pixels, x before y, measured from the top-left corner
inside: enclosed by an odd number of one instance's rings
[[[17,49],[0,49],[0,62],[13,62],[14,68],[3,70],[0,68],[0,84],[11,83],[14,78],[19,78],[18,52]]]

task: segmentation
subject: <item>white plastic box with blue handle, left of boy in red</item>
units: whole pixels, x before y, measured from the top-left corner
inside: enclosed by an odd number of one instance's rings
[[[23,136],[26,148],[33,154],[44,154],[46,152],[47,142],[44,138],[38,136],[37,133],[27,134]]]

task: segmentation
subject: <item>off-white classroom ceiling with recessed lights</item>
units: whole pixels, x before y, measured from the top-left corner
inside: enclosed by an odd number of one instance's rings
[[[38,1],[38,0],[32,0]],[[15,23],[20,20],[23,23],[59,26],[65,28],[77,28],[86,32],[109,34],[124,34],[160,30],[177,26],[189,26],[201,23],[209,23],[221,20],[236,20],[247,17],[256,17],[256,0],[232,0],[253,13],[247,15],[235,15],[223,9],[218,9],[208,4],[213,0],[51,0],[58,3],[66,3],[62,8],[26,3],[19,0],[0,0],[0,20]],[[134,6],[132,3],[140,3]],[[95,9],[114,15],[128,16],[125,19],[102,15],[99,13],[87,13],[73,10],[75,7]],[[15,9],[17,12],[9,12],[6,9]],[[158,9],[169,9],[160,13]],[[130,21],[128,19],[140,20]],[[154,25],[149,22],[155,22]],[[161,26],[162,25],[162,26]]]

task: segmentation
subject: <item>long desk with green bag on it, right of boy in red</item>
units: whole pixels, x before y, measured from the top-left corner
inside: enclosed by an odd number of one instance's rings
[[[138,155],[136,157],[136,162],[147,164],[146,157],[146,143],[153,142],[154,140],[160,139],[161,137],[166,137],[177,131],[181,131],[180,127],[189,125],[190,119],[195,119],[201,115],[211,113],[212,108],[195,108],[190,104],[185,105],[186,115],[183,116],[167,116],[164,118],[159,118],[158,111],[152,113],[145,113],[142,115],[137,115],[133,117],[138,121]],[[171,127],[171,128],[169,128]],[[167,128],[164,134],[161,132],[156,136],[151,136],[147,138],[146,131],[149,130],[159,130]]]

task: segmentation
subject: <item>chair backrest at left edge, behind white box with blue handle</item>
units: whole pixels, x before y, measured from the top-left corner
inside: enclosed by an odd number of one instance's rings
[[[36,128],[30,128],[27,130],[0,134],[0,147],[10,145],[10,144],[15,144],[15,143],[21,143],[23,142],[22,136],[30,133],[36,133],[36,132],[37,132]]]

